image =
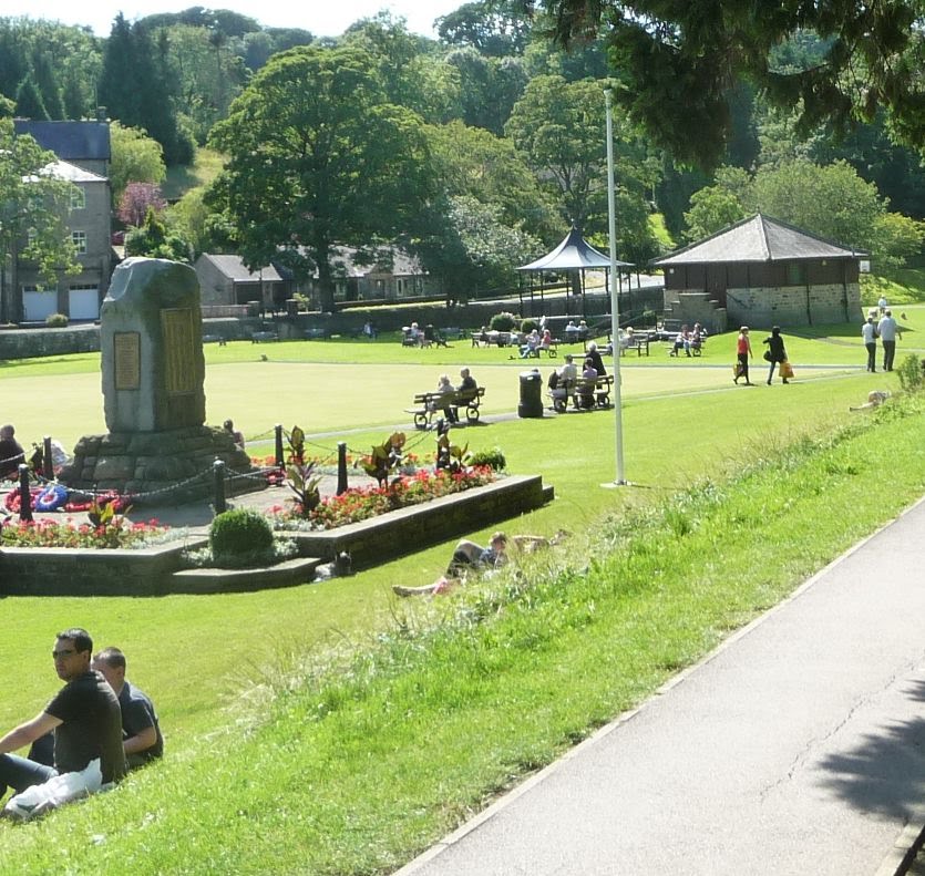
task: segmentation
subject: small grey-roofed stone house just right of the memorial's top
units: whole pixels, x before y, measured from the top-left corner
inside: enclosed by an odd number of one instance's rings
[[[241,316],[249,302],[263,310],[284,310],[290,284],[273,265],[250,270],[240,256],[203,253],[193,266],[199,278],[204,317]]]

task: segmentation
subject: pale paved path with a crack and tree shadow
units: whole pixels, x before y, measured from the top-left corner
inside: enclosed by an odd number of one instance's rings
[[[894,874],[923,703],[925,499],[400,874]]]

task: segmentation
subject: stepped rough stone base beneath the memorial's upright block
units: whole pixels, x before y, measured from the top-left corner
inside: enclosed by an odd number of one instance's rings
[[[179,505],[214,496],[215,460],[232,475],[226,495],[266,487],[247,453],[226,431],[210,426],[84,435],[58,480],[75,491],[116,491],[134,505]]]

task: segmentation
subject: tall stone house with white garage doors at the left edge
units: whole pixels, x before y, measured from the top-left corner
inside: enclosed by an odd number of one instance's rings
[[[4,289],[3,315],[12,322],[43,322],[55,312],[72,321],[99,319],[113,268],[109,123],[16,118],[13,128],[53,152],[59,161],[51,165],[52,172],[80,192],[71,202],[66,225],[81,271],[61,275],[55,288],[49,289],[34,265],[16,258]]]

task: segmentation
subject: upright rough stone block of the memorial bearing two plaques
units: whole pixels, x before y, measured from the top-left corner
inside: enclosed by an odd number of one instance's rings
[[[110,432],[205,422],[199,282],[188,265],[130,258],[100,310],[103,406]]]

